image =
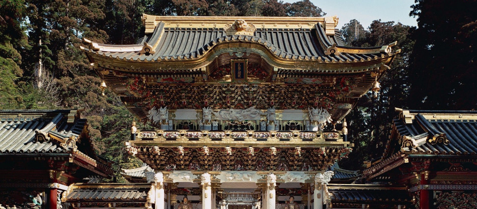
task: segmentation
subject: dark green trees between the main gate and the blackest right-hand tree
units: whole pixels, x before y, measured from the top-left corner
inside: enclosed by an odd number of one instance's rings
[[[363,161],[383,155],[391,130],[391,121],[397,116],[395,107],[407,107],[410,91],[409,56],[414,45],[414,40],[409,38],[412,27],[407,25],[375,20],[368,30],[360,32],[355,39],[354,29],[360,27],[362,28],[360,25],[355,26],[352,20],[341,29],[342,34],[347,35],[346,41],[349,45],[369,47],[397,41],[401,53],[396,55],[391,69],[381,77],[379,97],[374,98],[372,92],[368,92],[358,101],[357,108],[346,116],[348,139],[355,144],[355,148],[350,157],[340,163],[344,168],[355,170],[360,169]]]

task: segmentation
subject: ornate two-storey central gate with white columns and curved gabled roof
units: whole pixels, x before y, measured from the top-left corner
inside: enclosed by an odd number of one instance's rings
[[[147,166],[123,171],[154,182],[148,207],[183,207],[185,195],[203,209],[328,203],[328,170],[352,146],[342,120],[363,94],[379,91],[399,52],[396,42],[344,46],[337,22],[144,14],[137,44],[84,39],[101,87],[156,127],[133,123],[127,150]],[[290,196],[295,203],[285,202]]]

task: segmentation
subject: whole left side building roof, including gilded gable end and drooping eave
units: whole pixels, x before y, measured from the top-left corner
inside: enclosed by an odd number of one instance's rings
[[[94,153],[81,110],[0,110],[0,157],[68,154],[93,175],[110,177],[110,163]]]

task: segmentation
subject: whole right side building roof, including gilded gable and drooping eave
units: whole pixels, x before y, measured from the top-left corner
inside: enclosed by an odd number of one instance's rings
[[[406,110],[397,108],[399,118],[393,121],[391,137],[381,160],[363,171],[374,178],[408,158],[446,156],[450,159],[477,158],[477,111]]]

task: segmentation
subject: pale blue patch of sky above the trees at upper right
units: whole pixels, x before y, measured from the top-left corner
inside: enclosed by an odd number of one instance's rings
[[[295,2],[296,0],[284,0]],[[310,0],[320,7],[325,16],[338,16],[341,28],[352,19],[357,19],[364,28],[373,20],[395,21],[405,25],[417,26],[416,18],[410,17],[410,6],[414,0]]]

